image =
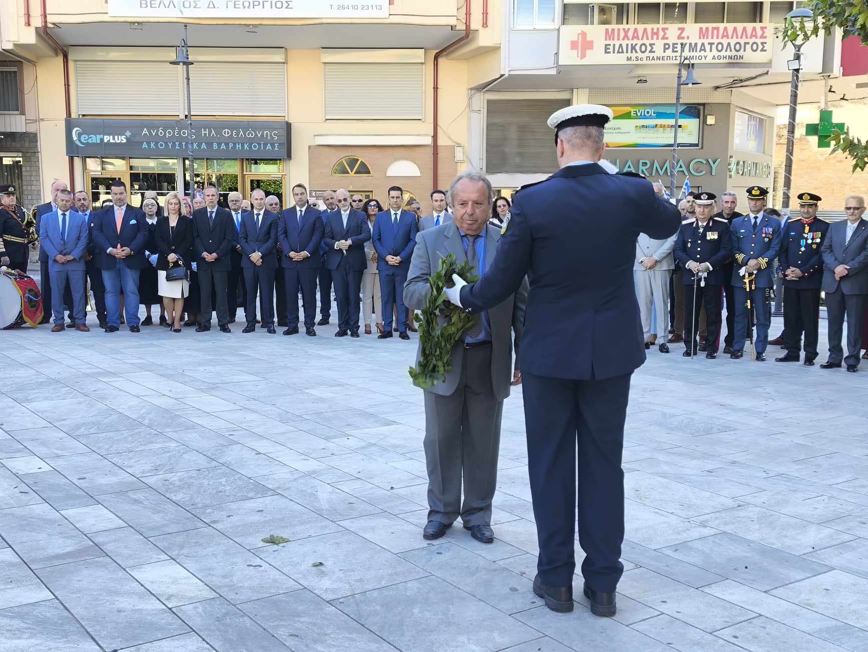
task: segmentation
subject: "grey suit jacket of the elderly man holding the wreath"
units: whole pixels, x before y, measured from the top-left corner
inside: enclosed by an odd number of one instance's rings
[[[500,240],[500,231],[494,227],[486,226],[485,240],[485,267],[491,266],[497,251],[497,242]],[[436,271],[440,260],[448,255],[455,254],[457,260],[466,260],[464,246],[461,243],[461,234],[455,222],[448,222],[440,227],[420,231],[416,236],[416,248],[413,250],[413,258],[410,263],[410,272],[407,274],[407,282],[404,283],[404,304],[413,310],[422,310],[431,293],[428,283],[432,271]],[[528,280],[522,281],[522,285],[515,294],[503,303],[491,308],[489,321],[491,324],[491,386],[498,400],[503,400],[510,395],[510,380],[512,380],[512,337],[510,331],[516,333],[516,369],[521,369],[519,355],[522,331],[524,328],[524,306],[528,299]],[[416,354],[418,363],[421,355],[421,344]],[[457,344],[452,349],[452,371],[447,374],[446,380],[436,383],[426,392],[434,392],[448,396],[455,392],[458,379],[461,378],[461,363],[464,359],[462,345]]]

